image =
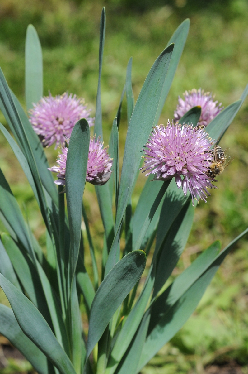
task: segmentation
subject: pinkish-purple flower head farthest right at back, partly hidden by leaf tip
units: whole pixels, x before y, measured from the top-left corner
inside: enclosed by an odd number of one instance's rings
[[[199,119],[199,126],[207,126],[217,114],[224,108],[221,107],[222,103],[218,104],[218,101],[213,101],[210,92],[205,92],[201,88],[198,90],[192,89],[191,91],[185,91],[183,94],[185,101],[178,96],[177,108],[174,111],[175,120],[179,120],[188,110],[193,107],[201,107],[201,117]]]

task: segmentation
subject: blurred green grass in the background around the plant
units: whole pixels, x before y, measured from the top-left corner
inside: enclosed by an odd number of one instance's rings
[[[139,1],[136,3],[139,5]],[[194,3],[194,2],[193,2]],[[123,6],[127,4],[127,6]],[[83,96],[92,114],[98,71],[99,20],[106,6],[107,27],[102,74],[103,135],[108,143],[125,82],[125,69],[133,56],[134,96],[140,92],[152,63],[173,31],[187,16],[191,21],[177,73],[161,115],[161,123],[173,117],[177,96],[186,89],[203,88],[227,106],[248,83],[248,2],[230,0],[192,6],[192,1],[156,1],[142,12],[128,10],[128,1],[1,0],[0,66],[10,88],[24,104],[24,43],[29,23],[37,28],[44,57],[44,94],[69,91]],[[182,5],[185,4],[185,7]],[[191,5],[190,5],[191,4]],[[127,118],[124,101],[120,125],[120,159],[123,156]],[[6,125],[0,114],[1,122]],[[208,202],[199,203],[185,253],[171,279],[182,272],[215,239],[223,246],[248,226],[248,102],[221,140],[235,160],[218,178],[218,190]],[[35,236],[45,245],[45,229],[31,188],[18,162],[0,135],[0,166],[21,209],[27,209]],[[57,152],[46,150],[49,162]],[[140,175],[133,195],[137,204],[145,181]],[[100,261],[103,227],[92,185],[84,200],[97,258]],[[25,206],[24,206],[24,204]],[[4,227],[0,224],[0,230]],[[87,249],[87,248],[86,248]],[[143,374],[203,373],[212,362],[233,359],[248,373],[248,241],[238,243],[204,295],[198,309],[176,337],[152,359]],[[148,259],[148,262],[150,260]],[[86,266],[90,269],[90,257]],[[100,262],[99,262],[100,267]],[[7,303],[3,293],[0,301]],[[10,370],[11,371],[11,370]],[[19,369],[18,371],[22,371]]]

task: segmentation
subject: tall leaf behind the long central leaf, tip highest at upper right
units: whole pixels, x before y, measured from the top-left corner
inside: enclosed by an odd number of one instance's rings
[[[173,49],[173,53],[171,56],[170,66],[167,71],[164,87],[161,93],[161,99],[159,101],[158,105],[158,111],[156,113],[156,118],[154,121],[154,124],[156,125],[158,123],[159,117],[161,115],[162,109],[164,107],[165,100],[167,98],[168,92],[170,90],[171,83],[173,81],[174,75],[176,73],[177,65],[179,63],[179,60],[183,53],[183,48],[186,43],[186,39],[189,33],[189,25],[190,20],[189,18],[185,19],[179,27],[174,32],[173,36],[170,38],[167,46],[169,46],[171,43],[175,44],[175,47]],[[145,143],[144,143],[145,144]]]

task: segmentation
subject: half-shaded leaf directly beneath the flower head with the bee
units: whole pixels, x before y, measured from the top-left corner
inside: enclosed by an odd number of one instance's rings
[[[173,222],[159,255],[153,297],[171,275],[187,243],[194,219],[195,208],[186,203]]]

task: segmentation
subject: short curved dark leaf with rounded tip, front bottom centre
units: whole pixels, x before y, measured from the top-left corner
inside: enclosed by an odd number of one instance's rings
[[[123,257],[103,279],[90,310],[87,357],[102,336],[115,311],[140,279],[145,266],[145,252],[133,251]]]

